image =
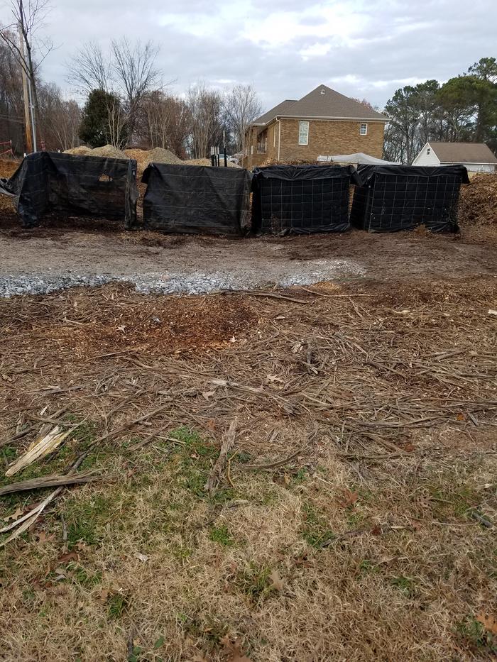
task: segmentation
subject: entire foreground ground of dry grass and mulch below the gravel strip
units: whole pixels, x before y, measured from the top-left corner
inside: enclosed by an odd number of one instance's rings
[[[4,461],[48,406],[84,423],[20,478],[106,476],[0,551],[4,659],[496,655],[493,279],[311,289],[0,302]]]

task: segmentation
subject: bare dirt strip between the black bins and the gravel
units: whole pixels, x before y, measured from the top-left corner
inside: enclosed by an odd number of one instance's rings
[[[0,276],[160,273],[168,280],[221,273],[236,276],[243,289],[244,281],[278,284],[302,273],[313,273],[315,281],[357,275],[391,280],[495,274],[496,266],[496,243],[422,233],[223,239],[81,228],[0,231]]]

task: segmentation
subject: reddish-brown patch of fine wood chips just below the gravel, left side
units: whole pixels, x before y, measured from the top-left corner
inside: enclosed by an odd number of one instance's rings
[[[241,297],[150,299],[127,285],[0,302],[3,333],[83,360],[106,352],[150,356],[222,348],[251,323],[253,313]]]

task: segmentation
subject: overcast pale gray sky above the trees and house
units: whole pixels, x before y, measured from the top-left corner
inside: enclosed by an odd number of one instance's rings
[[[497,57],[497,0],[51,0],[43,77],[70,93],[65,62],[85,41],[154,40],[180,94],[203,79],[253,83],[264,109],[320,83],[382,106],[398,87]],[[0,22],[10,23],[9,0]]]

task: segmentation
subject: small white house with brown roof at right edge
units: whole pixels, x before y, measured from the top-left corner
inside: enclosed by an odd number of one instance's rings
[[[485,143],[426,143],[413,165],[465,165],[469,172],[496,172],[497,158]]]

